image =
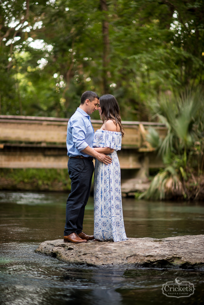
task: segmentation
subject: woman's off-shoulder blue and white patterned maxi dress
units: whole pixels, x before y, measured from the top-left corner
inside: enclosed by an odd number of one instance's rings
[[[94,170],[94,238],[101,241],[124,241],[126,237],[120,186],[120,164],[117,150],[121,149],[121,132],[98,129],[93,147],[110,147],[112,163],[96,160]]]

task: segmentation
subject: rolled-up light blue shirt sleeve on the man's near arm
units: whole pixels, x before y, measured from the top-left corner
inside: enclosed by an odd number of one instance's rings
[[[73,143],[76,149],[78,149],[79,151],[89,146],[85,141],[87,126],[88,120],[86,124],[86,121],[83,120],[82,117],[76,117],[71,121]]]

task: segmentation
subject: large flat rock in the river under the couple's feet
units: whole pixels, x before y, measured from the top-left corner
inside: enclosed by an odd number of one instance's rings
[[[125,242],[89,241],[82,244],[56,239],[42,242],[36,252],[71,264],[197,269],[204,268],[204,235],[129,238]]]

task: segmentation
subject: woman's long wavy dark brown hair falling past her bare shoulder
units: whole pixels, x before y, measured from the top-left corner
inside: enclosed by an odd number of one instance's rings
[[[112,120],[116,127],[119,125],[123,138],[124,128],[121,124],[120,108],[116,98],[111,94],[104,94],[99,98],[99,101],[103,123],[107,120]]]

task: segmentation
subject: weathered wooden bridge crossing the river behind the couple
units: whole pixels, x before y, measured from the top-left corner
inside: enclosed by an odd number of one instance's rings
[[[67,122],[56,117],[0,115],[0,168],[67,168]],[[100,120],[91,122],[95,131],[101,127]],[[165,136],[165,125],[137,121],[122,124],[125,137],[118,151],[121,169],[137,170],[142,178],[149,168],[163,167],[145,136],[150,126]]]

